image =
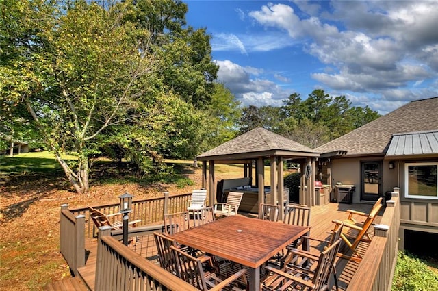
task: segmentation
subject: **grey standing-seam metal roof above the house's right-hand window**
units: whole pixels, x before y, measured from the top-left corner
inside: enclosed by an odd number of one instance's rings
[[[394,134],[386,155],[428,155],[438,153],[438,130]]]

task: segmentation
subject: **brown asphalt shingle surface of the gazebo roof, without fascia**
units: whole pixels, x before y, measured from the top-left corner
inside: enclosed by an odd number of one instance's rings
[[[251,131],[233,138],[228,142],[224,142],[218,147],[211,149],[201,155],[198,158],[205,160],[205,157],[224,156],[224,155],[236,155],[244,153],[261,153],[266,151],[287,151],[292,153],[311,153],[315,155],[318,151],[315,151],[305,145],[289,140],[279,134],[274,134],[272,131],[257,127]]]

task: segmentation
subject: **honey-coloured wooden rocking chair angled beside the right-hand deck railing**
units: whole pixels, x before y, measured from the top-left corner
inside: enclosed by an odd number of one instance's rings
[[[357,251],[357,247],[359,246],[360,242],[371,242],[372,238],[370,237],[368,230],[370,229],[374,218],[376,218],[378,211],[382,207],[382,199],[383,197],[380,197],[376,201],[376,203],[374,203],[374,206],[372,207],[372,210],[369,214],[366,214],[364,212],[358,212],[355,210],[347,210],[348,218],[346,220],[333,220],[333,223],[335,223],[335,225],[340,225],[341,223],[344,223],[344,230],[341,233],[341,238],[342,240],[344,240],[348,248],[352,251],[352,255],[339,253],[339,257],[343,257],[345,259],[352,260],[358,263],[361,262],[362,256],[359,251]],[[365,221],[363,221],[363,223],[360,223],[359,221],[357,221],[357,218],[355,216],[365,218]]]

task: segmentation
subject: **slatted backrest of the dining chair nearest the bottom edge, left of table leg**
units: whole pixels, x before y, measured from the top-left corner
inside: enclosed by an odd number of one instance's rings
[[[177,276],[199,290],[207,290],[205,273],[201,261],[175,246],[170,246],[170,249],[172,249],[177,262]]]

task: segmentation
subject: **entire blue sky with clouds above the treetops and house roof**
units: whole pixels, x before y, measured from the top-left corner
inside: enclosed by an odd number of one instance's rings
[[[438,96],[438,1],[183,2],[242,105],[321,88],[386,114]]]

